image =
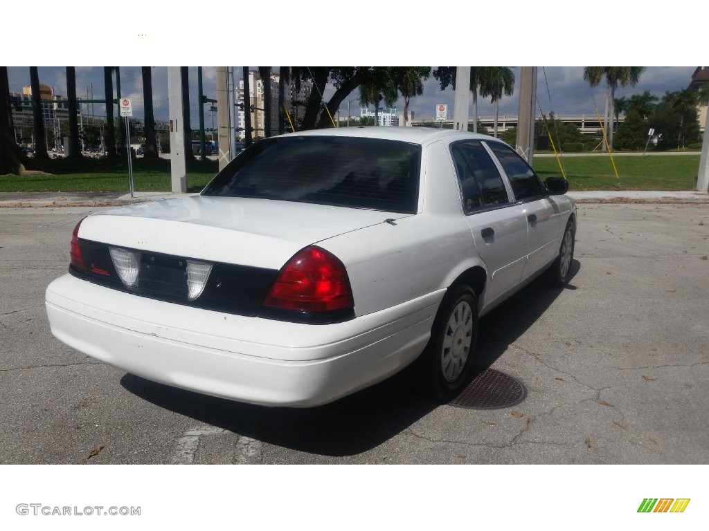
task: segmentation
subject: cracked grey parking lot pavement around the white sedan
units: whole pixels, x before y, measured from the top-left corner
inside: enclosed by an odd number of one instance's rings
[[[88,212],[0,209],[0,463],[709,463],[709,205],[579,205],[571,284],[481,320],[479,362],[527,389],[494,410],[432,404],[406,374],[267,409],[87,358],[43,303]]]

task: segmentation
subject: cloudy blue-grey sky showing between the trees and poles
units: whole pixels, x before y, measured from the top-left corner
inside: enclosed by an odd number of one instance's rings
[[[256,67],[251,67],[256,68]],[[434,67],[435,68],[435,67]],[[619,88],[616,97],[642,93],[650,91],[657,96],[662,96],[665,91],[676,91],[686,87],[691,74],[696,67],[647,67],[642,74],[640,83],[634,87]],[[274,67],[277,69],[277,67]],[[519,67],[513,68],[515,78],[519,79]],[[537,98],[545,113],[553,110],[557,115],[593,115],[594,109],[598,106],[599,112],[603,112],[604,89],[598,86],[591,89],[583,78],[583,67],[539,67],[537,77]],[[240,79],[242,67],[234,67],[235,78]],[[10,90],[20,92],[22,87],[30,83],[28,67],[9,67]],[[140,67],[121,67],[121,96],[133,98],[133,113],[137,118],[143,118],[143,81]],[[67,81],[64,67],[39,67],[40,83],[52,86],[56,94],[66,96]],[[77,96],[86,98],[86,93],[93,89],[94,99],[104,97],[104,69],[103,67],[76,67],[77,76]],[[216,68],[202,68],[203,90],[208,98],[216,98]],[[199,105],[197,104],[197,67],[189,68],[190,82],[190,107],[191,122],[196,127],[199,116]],[[238,81],[236,81],[238,84]],[[153,105],[155,107],[155,118],[166,120],[168,116],[167,107],[167,67],[152,67],[153,84]],[[549,90],[547,91],[547,85]],[[516,89],[516,85],[515,85]],[[114,86],[115,90],[115,86]],[[325,93],[328,97],[334,89],[329,87]],[[504,97],[500,102],[500,115],[514,116],[517,114],[518,96],[515,94]],[[355,90],[345,99],[341,107],[341,115],[347,115],[347,101],[356,99],[359,96]],[[418,96],[411,100],[411,110],[415,113],[416,119],[432,119],[435,116],[435,105],[447,103],[449,105],[449,115],[453,109],[453,91],[447,89],[440,91],[438,82],[431,76],[425,82],[423,96]],[[551,102],[551,103],[549,103]],[[359,104],[357,101],[350,103],[352,115],[359,114]],[[208,108],[208,107],[205,107]],[[403,102],[398,102],[398,109],[403,110]],[[537,113],[538,113],[537,109]],[[96,115],[105,115],[104,105],[94,104]],[[489,101],[479,100],[479,115],[491,116],[492,105]],[[114,111],[115,114],[115,111]],[[471,110],[472,115],[472,110]],[[216,119],[216,117],[215,117]],[[210,114],[205,113],[205,123],[210,123]]]

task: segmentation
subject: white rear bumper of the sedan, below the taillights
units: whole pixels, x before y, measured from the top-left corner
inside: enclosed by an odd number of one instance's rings
[[[316,406],[401,370],[423,350],[435,293],[345,323],[303,325],[184,307],[65,275],[47,288],[52,333],[155,382],[268,406]]]

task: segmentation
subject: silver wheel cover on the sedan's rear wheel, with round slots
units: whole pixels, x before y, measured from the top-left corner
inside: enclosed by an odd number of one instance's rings
[[[443,336],[441,374],[446,382],[455,382],[463,372],[472,340],[473,312],[470,304],[461,301],[451,312]]]

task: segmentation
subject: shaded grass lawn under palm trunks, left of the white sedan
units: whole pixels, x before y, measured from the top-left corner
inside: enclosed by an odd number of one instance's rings
[[[46,175],[0,176],[0,192],[125,192],[128,161],[54,159]],[[216,161],[187,161],[187,187],[199,192],[218,171]],[[133,185],[138,192],[170,190],[170,161],[133,161]]]

